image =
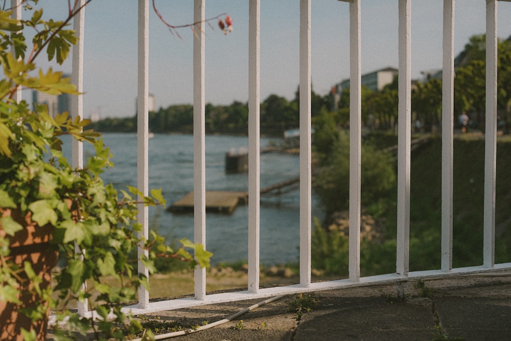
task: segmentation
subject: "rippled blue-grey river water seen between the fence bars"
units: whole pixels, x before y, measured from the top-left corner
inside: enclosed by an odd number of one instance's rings
[[[106,183],[122,189],[136,186],[136,134],[105,133],[103,141],[113,154],[114,168],[103,174]],[[261,138],[261,148],[278,139]],[[67,143],[65,143],[66,145]],[[68,144],[67,144],[68,145]],[[248,174],[226,174],[225,153],[247,148],[246,137],[206,136],[206,190],[247,191]],[[84,143],[84,158],[92,153]],[[261,188],[299,175],[299,156],[286,153],[261,154]],[[149,188],[161,188],[167,207],[193,190],[193,136],[155,134],[149,140]],[[320,214],[313,200],[313,215]],[[150,209],[150,229],[168,240],[193,240],[193,213],[175,214],[164,208]],[[248,207],[232,214],[206,213],[206,249],[212,263],[247,259]],[[298,261],[299,191],[279,196],[261,195],[260,261],[263,265]]]

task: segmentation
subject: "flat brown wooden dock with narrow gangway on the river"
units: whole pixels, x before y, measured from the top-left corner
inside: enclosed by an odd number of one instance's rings
[[[282,193],[285,187],[297,184],[300,177],[294,177],[289,180],[262,188],[260,194],[274,192]],[[233,213],[239,204],[248,203],[248,192],[231,192],[231,191],[206,191],[206,212],[216,213]],[[173,213],[187,213],[194,211],[194,193],[193,191],[174,202],[168,211]]]

